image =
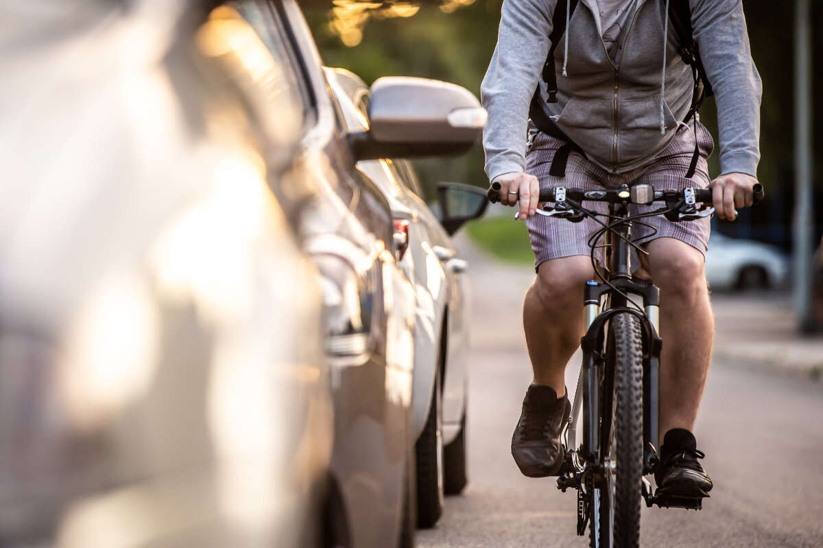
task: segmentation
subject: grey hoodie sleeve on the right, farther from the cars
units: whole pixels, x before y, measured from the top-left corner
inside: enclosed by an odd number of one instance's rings
[[[757,176],[760,75],[751,59],[742,0],[690,0],[694,37],[714,88],[720,170]]]

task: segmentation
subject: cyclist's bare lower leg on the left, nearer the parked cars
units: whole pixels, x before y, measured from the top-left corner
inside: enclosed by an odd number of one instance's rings
[[[565,366],[584,333],[583,288],[594,271],[588,256],[547,260],[523,302],[523,328],[534,382],[565,394]]]

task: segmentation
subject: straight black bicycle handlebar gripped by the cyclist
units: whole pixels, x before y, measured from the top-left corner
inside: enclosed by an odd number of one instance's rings
[[[684,189],[681,191],[654,191],[651,185],[635,185],[634,187],[630,187],[629,189],[619,188],[602,191],[584,191],[580,188],[564,187],[542,188],[540,189],[540,197],[538,198],[538,200],[542,202],[555,202],[557,199],[557,188],[563,188],[563,190],[565,191],[566,200],[574,200],[578,203],[583,202],[584,200],[589,200],[609,203],[626,202],[631,204],[649,205],[655,201],[670,202],[686,200],[688,197],[687,194],[690,193],[689,191],[694,191],[695,202],[711,204],[713,200],[712,189],[710,188]],[[757,205],[765,197],[763,185],[761,185],[758,182],[752,188],[752,190],[755,193],[755,205]],[[491,187],[489,187],[489,190],[486,191],[486,197],[489,199],[489,201],[491,201],[491,203],[494,204],[500,201],[499,192],[500,182],[493,182],[491,183]]]

